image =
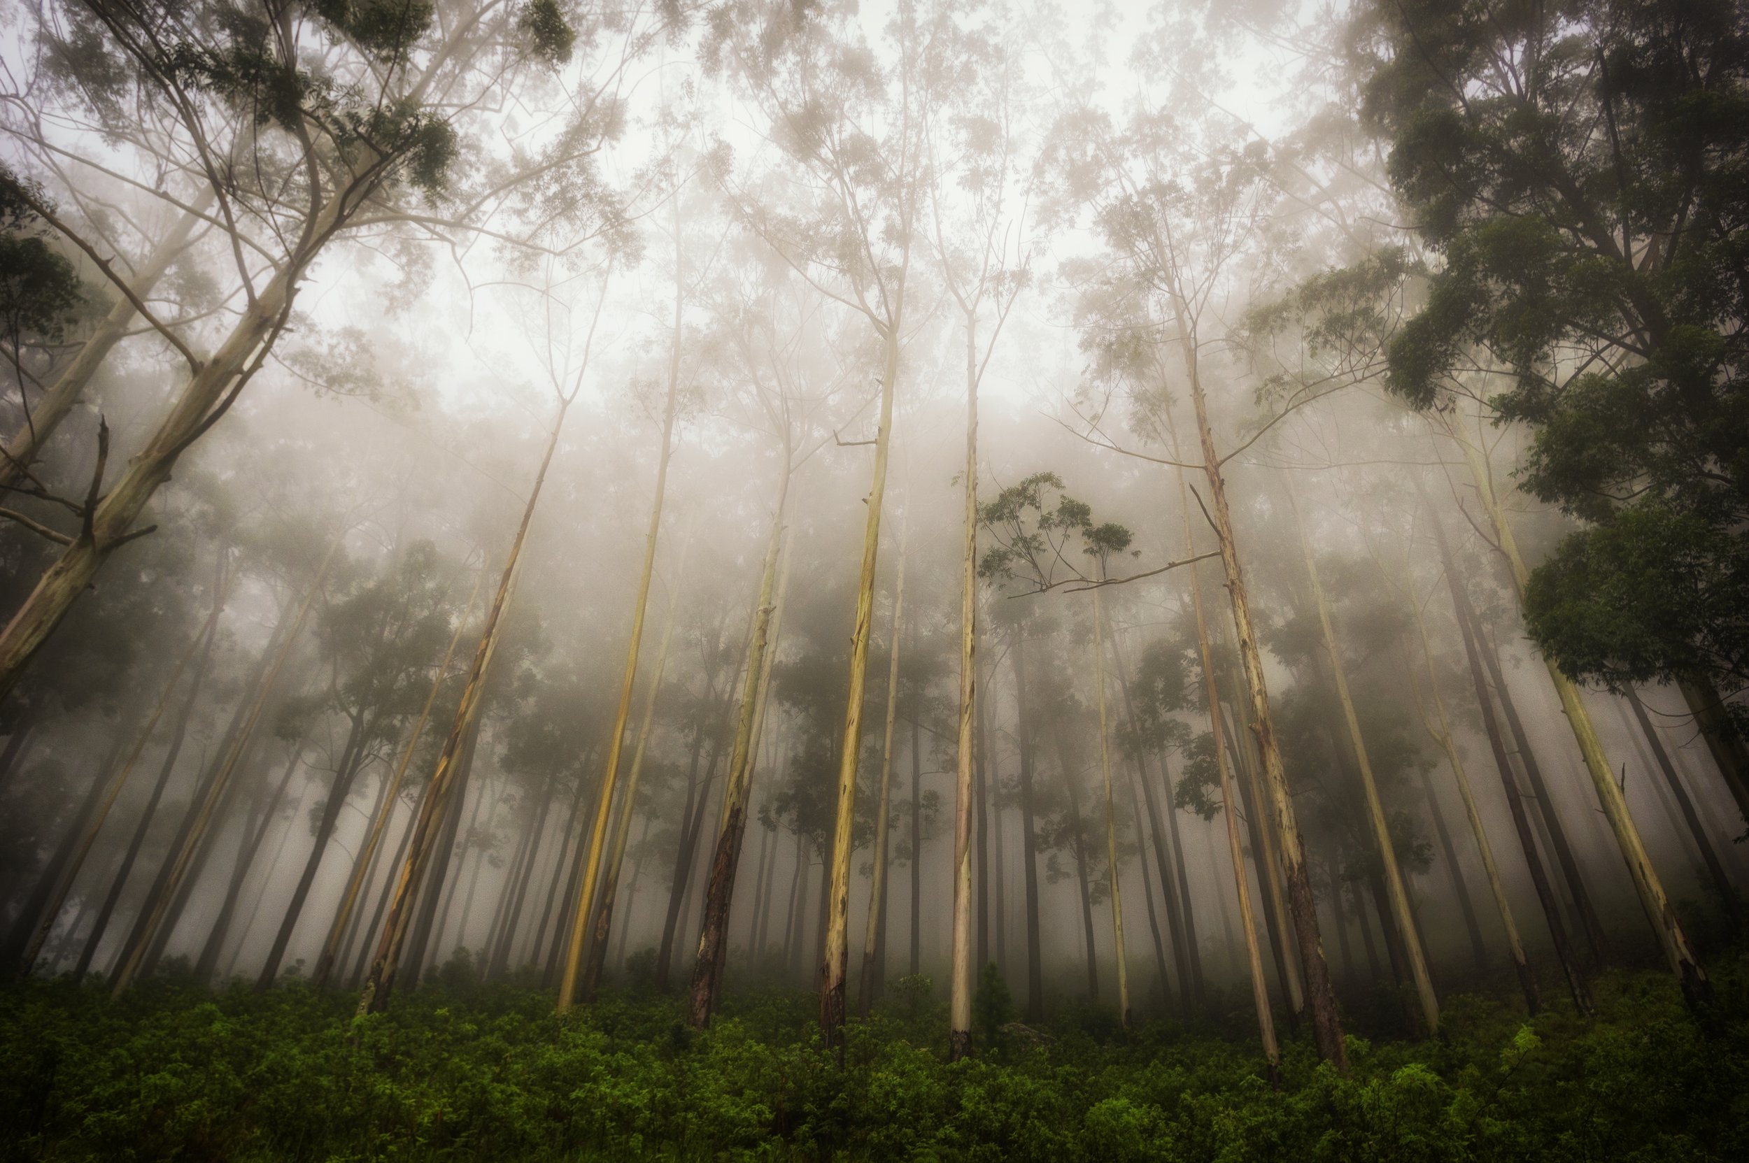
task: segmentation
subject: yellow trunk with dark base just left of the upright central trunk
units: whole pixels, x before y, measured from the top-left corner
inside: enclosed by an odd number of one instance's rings
[[[899,378],[899,320],[883,327],[885,362],[880,381],[880,430],[874,437],[874,479],[869,483],[868,521],[862,530],[862,574],[857,579],[857,614],[850,631],[850,696],[838,754],[838,803],[829,845],[826,941],[820,960],[820,1035],[840,1044],[845,1025],[845,978],[850,971],[850,831],[855,824],[857,759],[862,752],[862,693],[868,684],[869,631],[874,621],[874,561],[880,554],[880,518],[887,497],[887,453],[892,446],[892,393]],[[916,859],[916,853],[913,853]]]

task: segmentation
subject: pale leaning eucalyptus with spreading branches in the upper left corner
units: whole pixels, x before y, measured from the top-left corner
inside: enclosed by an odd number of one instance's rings
[[[570,217],[596,210],[598,152],[619,128],[614,89],[624,51],[647,44],[651,26],[666,17],[614,17],[617,38],[584,28],[581,44],[609,61],[581,59],[567,133],[533,156],[498,159],[488,145],[486,128],[498,115],[488,98],[530,70],[570,59],[579,44],[551,0],[525,7],[467,0],[442,19],[434,5],[390,0],[30,10],[28,31],[54,73],[54,84],[35,91],[51,103],[38,114],[101,126],[124,184],[154,189],[142,175],[166,170],[210,191],[201,220],[229,247],[227,278],[241,303],[205,338],[184,338],[105,259],[101,240],[24,191],[24,205],[84,252],[177,352],[185,380],[119,479],[105,488],[100,449],[84,498],[66,502],[79,532],[51,537],[59,556],[0,631],[0,693],[17,684],[103,561],[150,528],[138,526],[147,502],[261,371],[290,324],[299,285],[336,238],[432,222],[477,227],[535,184],[593,191],[574,198],[588,205],[567,206]],[[456,164],[463,157],[469,164]],[[168,189],[156,192],[199,213]],[[196,346],[205,339],[215,346],[203,357]]]

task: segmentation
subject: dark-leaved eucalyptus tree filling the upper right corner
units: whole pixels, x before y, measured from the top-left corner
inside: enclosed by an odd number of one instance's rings
[[[1366,3],[1352,30],[1362,119],[1436,259],[1390,388],[1446,411],[1473,381],[1488,418],[1529,427],[1522,486],[1583,528],[1513,563],[1527,626],[1576,679],[1674,682],[1749,815],[1740,12]],[[1562,705],[1639,867],[1583,703]],[[1665,946],[1700,988],[1681,934]]]

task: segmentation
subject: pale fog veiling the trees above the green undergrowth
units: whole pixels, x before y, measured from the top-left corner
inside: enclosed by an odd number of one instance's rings
[[[1411,1030],[1730,923],[1334,14],[388,7],[10,9],[5,972]]]

